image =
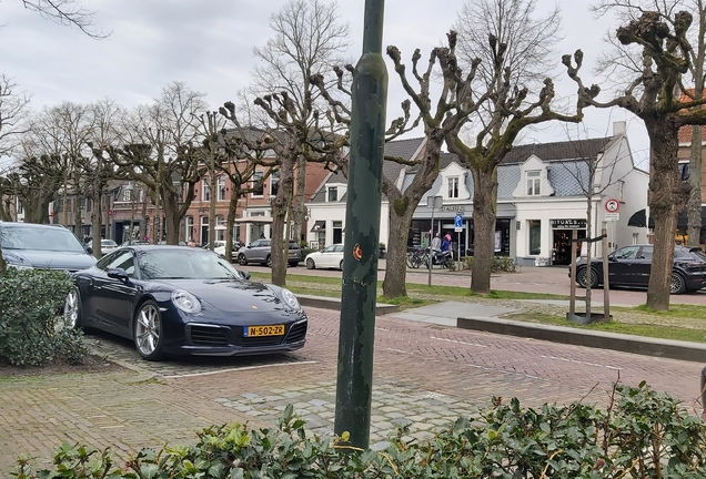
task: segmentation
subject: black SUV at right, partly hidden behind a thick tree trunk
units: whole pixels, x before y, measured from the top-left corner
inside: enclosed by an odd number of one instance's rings
[[[646,288],[649,283],[653,245],[624,246],[608,255],[611,286]],[[576,282],[591,287],[603,284],[603,259],[592,258],[588,268],[586,258],[576,262]],[[571,268],[568,272],[571,277]],[[706,286],[706,254],[698,247],[675,246],[674,265],[669,291],[672,294],[695,292]]]

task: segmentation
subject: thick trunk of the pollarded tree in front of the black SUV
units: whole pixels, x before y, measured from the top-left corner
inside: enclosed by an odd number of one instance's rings
[[[649,214],[655,218],[655,247],[647,287],[647,306],[657,310],[667,310],[677,215],[688,201],[690,187],[679,177],[678,129],[674,121],[660,119],[660,121],[645,121],[645,123],[652,144]]]

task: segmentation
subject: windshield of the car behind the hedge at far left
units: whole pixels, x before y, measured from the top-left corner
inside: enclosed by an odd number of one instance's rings
[[[59,226],[3,225],[1,228],[2,249],[85,253],[75,236],[69,230]]]

